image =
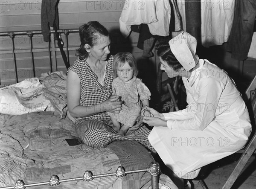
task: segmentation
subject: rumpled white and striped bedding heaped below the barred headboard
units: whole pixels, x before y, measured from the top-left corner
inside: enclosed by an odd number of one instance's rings
[[[67,113],[67,75],[62,71],[42,73],[40,78],[25,79],[0,88],[0,113],[21,115],[40,111]]]

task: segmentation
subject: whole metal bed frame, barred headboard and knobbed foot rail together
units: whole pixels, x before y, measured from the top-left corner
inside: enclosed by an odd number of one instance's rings
[[[49,68],[50,71],[52,72],[52,67],[55,67],[55,70],[57,70],[57,64],[56,61],[56,51],[59,51],[60,49],[55,47],[55,40],[54,40],[54,33],[56,33],[55,30],[50,30],[49,31],[51,34],[51,40],[48,42],[48,55],[49,55]],[[68,46],[68,34],[71,32],[79,32],[78,29],[60,29],[57,30],[58,34],[64,34],[66,38],[66,54],[67,54],[67,62],[69,64],[69,50],[75,50],[76,47],[69,47]],[[22,52],[30,52],[30,57],[31,57],[31,65],[32,65],[32,70],[33,70],[33,76],[35,77],[35,64],[34,64],[34,56],[33,52],[35,52],[35,49],[33,49],[33,44],[32,44],[32,36],[35,34],[41,34],[41,31],[23,31],[23,32],[0,32],[0,37],[2,36],[9,36],[12,41],[12,58],[13,58],[13,65],[15,69],[15,80],[16,83],[18,83],[18,75],[17,75],[17,62],[16,62],[16,56],[15,56],[15,43],[14,43],[14,38],[16,35],[27,35],[29,37],[29,50],[28,49],[19,49],[18,51],[22,50]],[[54,41],[51,45],[51,41]],[[62,43],[62,47],[64,47],[64,44]],[[44,49],[46,50],[46,49]],[[10,53],[8,50],[6,52]],[[52,58],[52,53],[55,54],[55,58]],[[52,60],[53,59],[53,60]],[[55,65],[53,65],[53,63]],[[66,65],[68,68],[69,66]],[[1,85],[1,81],[0,81]],[[9,85],[9,84],[7,84]],[[3,86],[1,86],[3,87]],[[99,175],[93,175],[92,172],[90,171],[85,171],[83,177],[76,177],[76,178],[69,178],[69,179],[64,179],[64,180],[59,180],[58,176],[53,174],[49,182],[41,182],[41,183],[33,183],[33,184],[25,184],[23,180],[17,180],[15,183],[15,186],[8,186],[8,187],[2,187],[0,189],[25,189],[26,187],[29,186],[41,186],[41,185],[50,185],[50,186],[56,186],[61,184],[62,182],[70,182],[70,181],[75,181],[75,180],[83,180],[83,181],[90,181],[93,180],[94,178],[99,178],[99,177],[109,177],[109,176],[116,176],[116,177],[123,177],[126,174],[131,174],[131,173],[137,173],[137,172],[148,172],[151,174],[151,186],[152,189],[158,189],[158,180],[159,180],[159,175],[161,174],[160,172],[160,166],[157,162],[152,162],[147,169],[140,169],[140,170],[134,170],[134,171],[125,171],[125,169],[122,166],[119,166],[114,173],[109,173],[109,174],[99,174]]]

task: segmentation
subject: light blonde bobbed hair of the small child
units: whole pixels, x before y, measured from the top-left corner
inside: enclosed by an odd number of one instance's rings
[[[133,69],[133,75],[136,77],[139,73],[137,68],[137,63],[135,61],[134,56],[130,52],[119,52],[115,55],[113,59],[113,74],[114,78],[117,77],[117,70],[119,67],[122,67],[125,62],[129,64],[129,66]]]

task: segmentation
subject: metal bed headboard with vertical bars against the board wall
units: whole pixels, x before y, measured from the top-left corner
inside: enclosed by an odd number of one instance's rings
[[[63,47],[62,52],[57,45],[58,40],[54,37],[55,30],[49,32],[51,35],[49,42],[44,42],[41,30],[0,32],[0,86],[38,77],[47,71],[67,70],[70,65],[70,51],[76,51],[80,44],[79,29],[57,30]],[[67,60],[63,60],[64,56],[61,53],[65,54]],[[75,52],[72,52],[71,57],[76,58]],[[66,64],[63,64],[64,62]]]

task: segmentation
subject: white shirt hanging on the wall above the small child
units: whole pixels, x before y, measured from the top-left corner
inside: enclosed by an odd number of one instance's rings
[[[171,19],[171,7],[166,0],[134,1],[126,0],[119,18],[122,35],[127,38],[131,25],[148,24],[152,35],[168,36]]]

